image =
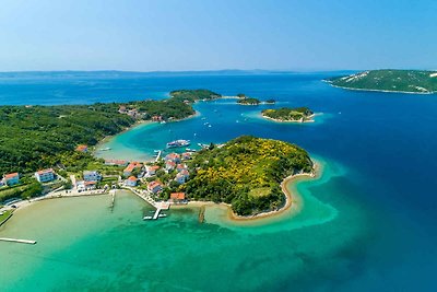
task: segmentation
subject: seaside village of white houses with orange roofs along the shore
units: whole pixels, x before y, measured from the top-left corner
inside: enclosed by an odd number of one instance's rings
[[[81,144],[75,151],[87,153],[88,147]],[[160,151],[152,162],[105,160],[105,171],[85,170],[69,174],[68,177],[62,176],[60,170],[56,172],[54,168],[39,170],[32,177],[21,176],[19,173],[4,174],[0,180],[0,190],[13,190],[22,185],[35,184],[40,187],[35,191],[40,194],[3,200],[0,203],[0,217],[29,201],[104,194],[114,196],[117,189],[128,189],[156,209],[156,218],[144,219],[157,219],[163,217],[160,211],[169,209],[170,205],[188,202],[186,194],[178,188],[190,176],[187,162],[191,160],[191,155],[192,152],[172,152],[162,156]]]

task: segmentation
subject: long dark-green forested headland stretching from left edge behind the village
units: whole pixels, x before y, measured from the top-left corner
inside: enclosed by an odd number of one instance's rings
[[[172,92],[170,96],[123,104],[0,106],[0,175],[69,163],[69,156],[78,156],[74,153],[78,144],[94,145],[105,136],[116,135],[135,120],[155,115],[164,119],[188,117],[194,114],[192,102],[221,95],[206,90],[182,90]],[[137,109],[140,115],[120,114],[120,106]],[[92,157],[76,159],[85,160],[85,165]]]

